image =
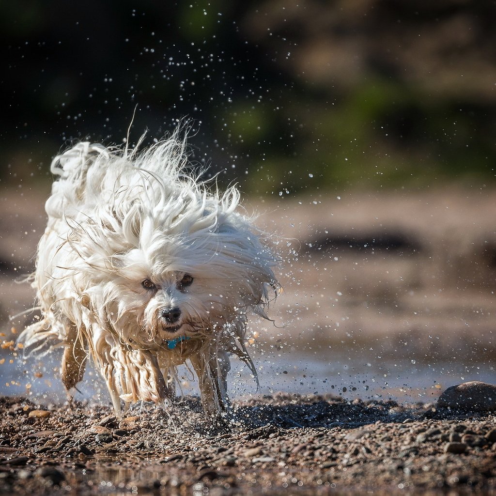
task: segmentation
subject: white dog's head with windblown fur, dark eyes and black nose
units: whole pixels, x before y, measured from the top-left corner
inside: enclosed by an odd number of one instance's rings
[[[249,232],[216,226],[174,234],[156,226],[151,239],[138,236],[138,246],[109,252],[89,274],[93,308],[126,341],[158,349],[178,337],[209,337],[244,321],[265,297],[270,281]]]

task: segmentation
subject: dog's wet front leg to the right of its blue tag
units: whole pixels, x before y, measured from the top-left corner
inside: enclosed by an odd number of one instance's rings
[[[225,351],[209,353],[208,350],[192,355],[193,366],[200,387],[201,403],[205,413],[212,418],[229,411],[227,374],[231,370],[229,356]]]

